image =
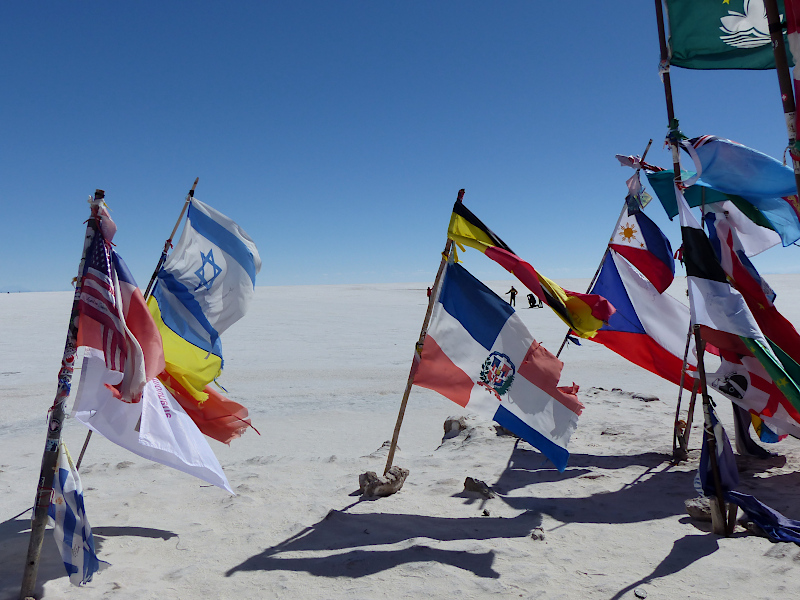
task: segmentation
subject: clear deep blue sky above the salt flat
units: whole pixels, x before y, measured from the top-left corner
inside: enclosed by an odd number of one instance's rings
[[[544,275],[588,278],[632,173],[614,154],[653,138],[671,164],[653,2],[4,2],[0,51],[3,291],[69,289],[95,188],[143,287],[195,177],[259,285],[428,281],[462,187]],[[672,81],[687,135],[782,155],[774,72]]]

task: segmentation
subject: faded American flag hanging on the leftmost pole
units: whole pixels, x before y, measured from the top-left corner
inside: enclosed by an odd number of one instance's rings
[[[114,292],[114,268],[109,248],[97,229],[86,253],[80,296],[82,337],[86,345],[101,350],[106,366],[124,371],[128,353],[124,324]]]

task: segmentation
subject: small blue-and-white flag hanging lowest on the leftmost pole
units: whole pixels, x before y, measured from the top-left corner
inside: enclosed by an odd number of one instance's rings
[[[119,400],[114,400],[122,404]],[[59,554],[67,569],[69,581],[82,585],[92,580],[92,576],[108,563],[97,558],[94,549],[92,527],[86,518],[83,504],[81,478],[64,442],[58,449],[58,463],[53,477],[53,497],[47,514],[52,519],[53,536]]]

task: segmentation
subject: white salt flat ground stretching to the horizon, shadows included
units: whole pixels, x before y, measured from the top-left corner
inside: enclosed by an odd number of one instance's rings
[[[770,277],[800,324],[800,276]],[[586,281],[562,282],[583,290]],[[395,496],[361,501],[358,475],[382,471],[425,285],[258,288],[225,336],[223,384],[261,431],[212,442],[236,496],[133,456],[95,436],[82,468],[101,558],[112,566],[70,586],[48,532],[37,593],[114,598],[783,598],[800,585],[800,547],[741,528],[731,538],[692,522],[700,416],[688,463],[669,462],[677,389],[584,342],[562,354],[562,381],[586,405],[559,474],[524,442],[472,421],[441,441],[456,405],[411,395]],[[496,282],[499,293],[510,282]],[[684,293],[682,282],[674,293]],[[0,599],[16,598],[47,408],[71,294],[0,295]],[[520,309],[556,351],[564,327]],[[644,402],[634,393],[654,395]],[[684,399],[684,406],[686,406]],[[729,403],[720,413],[731,422]],[[85,429],[68,422],[77,455]],[[800,444],[782,460],[742,460],[743,491],[800,518]],[[465,477],[498,492],[463,492]],[[531,537],[541,527],[544,540]]]

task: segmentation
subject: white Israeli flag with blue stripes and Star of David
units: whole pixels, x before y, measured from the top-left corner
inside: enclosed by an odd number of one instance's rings
[[[247,312],[260,270],[261,257],[250,236],[193,198],[181,238],[153,292],[164,324],[221,357],[219,336]]]

